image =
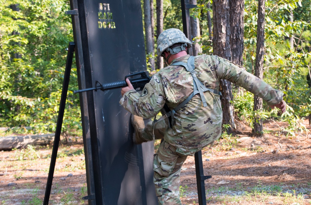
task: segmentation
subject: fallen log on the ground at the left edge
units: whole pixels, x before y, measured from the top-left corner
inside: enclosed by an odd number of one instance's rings
[[[55,134],[26,135],[0,137],[0,150],[12,150],[13,148],[26,148],[27,145],[47,145],[54,141]]]

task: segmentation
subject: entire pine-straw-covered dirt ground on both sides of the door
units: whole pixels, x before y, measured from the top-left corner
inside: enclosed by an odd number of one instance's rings
[[[311,131],[307,120],[306,127]],[[311,204],[311,134],[279,135],[285,124],[264,122],[261,138],[240,124],[242,134],[202,150],[207,204]],[[2,151],[0,204],[42,204],[52,147]],[[183,165],[183,204],[198,204],[194,157]],[[50,204],[86,204],[86,171],[81,139],[60,145]]]

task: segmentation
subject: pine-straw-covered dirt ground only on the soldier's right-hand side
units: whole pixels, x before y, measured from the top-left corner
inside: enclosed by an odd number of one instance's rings
[[[236,146],[230,148],[228,140],[221,139],[202,150],[204,175],[212,176],[205,181],[207,204],[311,204],[311,134],[276,137],[279,126],[286,126],[277,124],[264,122],[264,130],[270,133],[261,138],[250,137],[251,129],[246,127],[236,138]],[[307,120],[304,125],[311,131]],[[183,197],[183,203],[195,204],[194,157],[187,158],[183,169],[181,185],[193,193]],[[296,196],[303,193],[304,200],[286,200],[287,192]]]

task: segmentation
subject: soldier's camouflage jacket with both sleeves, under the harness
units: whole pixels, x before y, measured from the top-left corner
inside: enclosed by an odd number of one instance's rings
[[[189,57],[176,58],[172,63],[187,62]],[[207,88],[219,90],[220,80],[226,79],[263,98],[268,105],[277,104],[283,98],[281,91],[248,73],[244,67],[218,56],[196,56],[195,71],[197,78]],[[192,92],[191,74],[183,66],[167,66],[152,76],[141,94],[135,90],[126,92],[120,104],[134,115],[151,118],[156,116],[165,103],[172,110]],[[174,125],[165,133],[165,141],[176,146],[179,153],[193,155],[220,137],[220,96],[209,91],[204,92],[204,96],[207,107],[203,107],[199,94],[193,96],[175,113]]]

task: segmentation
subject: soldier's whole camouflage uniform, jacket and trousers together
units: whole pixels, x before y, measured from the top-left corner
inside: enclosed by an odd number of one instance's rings
[[[186,55],[174,59],[187,62]],[[268,105],[281,102],[283,93],[256,76],[226,59],[213,55],[195,57],[197,78],[210,89],[219,90],[220,80],[226,79],[263,98]],[[157,72],[146,84],[141,94],[135,90],[126,92],[120,104],[129,112],[143,118],[151,118],[166,103],[174,109],[193,92],[193,78],[183,66],[167,66]],[[222,110],[220,96],[204,92],[207,107],[203,107],[200,95],[195,95],[174,116],[174,125],[167,129],[165,121],[160,126],[164,141],[154,155],[154,183],[160,204],[181,204],[179,200],[179,174],[187,156],[218,139],[221,134]],[[149,129],[149,130],[148,130]],[[146,125],[143,136],[152,140],[151,125]],[[155,131],[155,135],[157,136]],[[157,138],[160,138],[157,136]]]

